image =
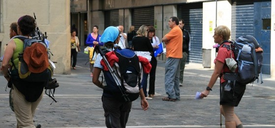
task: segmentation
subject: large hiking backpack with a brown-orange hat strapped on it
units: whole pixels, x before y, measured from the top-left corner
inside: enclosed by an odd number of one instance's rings
[[[14,36],[14,38],[19,38],[24,42],[24,51],[19,54],[18,69],[13,63],[13,67],[18,71],[18,76],[20,79],[28,82],[45,82],[49,81],[53,76],[53,68],[49,63],[49,55],[47,45],[44,41],[36,38],[27,38],[25,36]],[[30,51],[32,51],[30,53]],[[37,58],[39,59],[37,59]],[[26,63],[28,62],[28,64]],[[44,66],[44,68],[40,68]],[[35,67],[39,70],[30,69]]]

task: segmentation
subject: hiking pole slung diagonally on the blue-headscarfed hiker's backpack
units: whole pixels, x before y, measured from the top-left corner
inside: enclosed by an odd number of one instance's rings
[[[105,54],[102,52],[100,46],[99,46],[99,45],[96,45],[96,46],[95,46],[95,50],[97,50],[97,51],[99,52],[99,54],[101,55],[101,57],[102,57],[104,63],[107,65],[107,67],[108,67],[108,69],[109,69],[109,71],[110,71],[110,74],[111,74],[112,78],[114,79],[115,84],[118,86],[120,92],[122,93],[122,96],[123,96],[124,100],[125,100],[126,102],[129,102],[130,99],[129,99],[128,95],[125,93],[125,91],[124,91],[123,88],[121,87],[121,83],[118,82],[118,78],[117,78],[117,76],[115,75],[115,71],[111,68],[111,66],[110,66],[109,62],[107,61],[107,59],[106,59],[106,57],[105,57]]]

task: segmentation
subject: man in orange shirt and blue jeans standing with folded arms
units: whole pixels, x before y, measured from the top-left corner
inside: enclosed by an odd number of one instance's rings
[[[170,17],[168,25],[171,31],[165,34],[162,39],[166,44],[165,91],[168,95],[163,100],[176,101],[180,100],[179,77],[183,33],[179,27],[179,19],[177,17]]]

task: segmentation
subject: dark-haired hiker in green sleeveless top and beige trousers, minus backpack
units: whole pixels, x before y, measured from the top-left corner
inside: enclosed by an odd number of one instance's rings
[[[17,23],[17,31],[19,35],[29,37],[30,34],[35,31],[35,20],[29,15],[20,17]],[[18,54],[22,54],[23,50],[23,40],[19,38],[12,38],[8,42],[8,45],[4,52],[2,71],[5,79],[9,83],[12,82],[11,97],[14,106],[14,113],[17,120],[17,128],[35,128],[33,116],[38,104],[43,97],[43,90],[46,82],[27,82],[20,79],[19,76],[12,77],[16,73],[8,73],[9,71],[14,72],[18,70]],[[13,61],[13,64],[10,62],[10,60]]]

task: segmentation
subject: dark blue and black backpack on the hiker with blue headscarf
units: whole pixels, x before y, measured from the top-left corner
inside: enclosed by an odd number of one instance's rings
[[[139,96],[140,86],[141,64],[138,56],[130,49],[116,49],[105,56],[113,53],[118,58],[118,62],[115,62],[111,68],[118,81],[112,77],[110,70],[103,70],[106,82],[104,91],[112,94],[121,102],[134,101]],[[121,87],[116,82],[120,83]]]

